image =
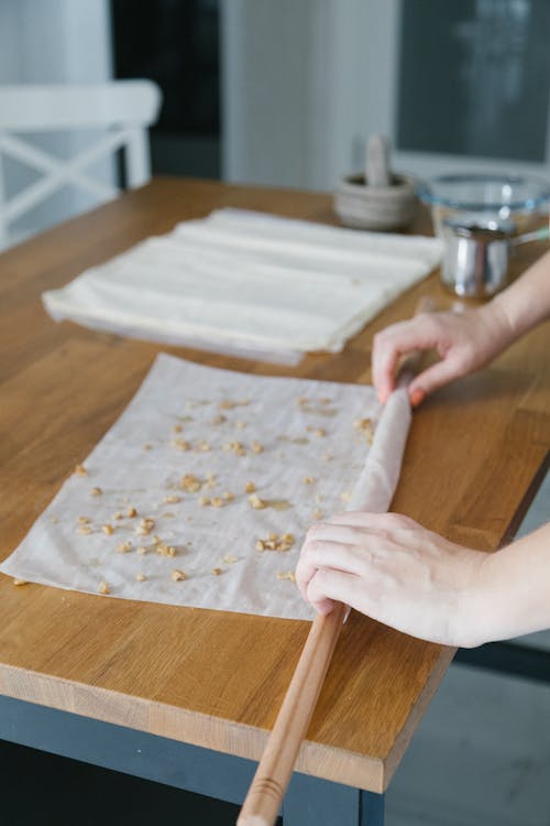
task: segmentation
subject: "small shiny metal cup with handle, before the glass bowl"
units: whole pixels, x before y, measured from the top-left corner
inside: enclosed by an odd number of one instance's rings
[[[487,297],[508,283],[510,249],[520,243],[548,239],[548,227],[514,236],[512,221],[463,224],[443,221],[443,284],[457,295]]]

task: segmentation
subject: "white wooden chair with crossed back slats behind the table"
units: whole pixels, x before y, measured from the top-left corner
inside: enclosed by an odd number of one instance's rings
[[[86,169],[121,148],[128,186],[145,184],[151,177],[147,127],[156,120],[161,102],[161,89],[151,80],[0,86],[0,249],[9,246],[9,228],[14,220],[67,184],[94,194],[99,202],[116,197],[120,189],[94,180]],[[65,130],[97,133],[98,129],[101,138],[68,161],[21,137]],[[43,175],[8,199],[3,156]]]

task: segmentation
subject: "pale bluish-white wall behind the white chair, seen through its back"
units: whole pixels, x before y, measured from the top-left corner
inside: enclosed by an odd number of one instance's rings
[[[0,84],[100,83],[112,77],[108,0],[0,0]],[[68,157],[92,135],[50,134],[30,142]],[[114,180],[111,161],[92,167]],[[19,163],[4,163],[7,188],[14,194],[36,180]],[[40,231],[91,208],[97,200],[76,189],[61,191],[14,224],[15,236]]]

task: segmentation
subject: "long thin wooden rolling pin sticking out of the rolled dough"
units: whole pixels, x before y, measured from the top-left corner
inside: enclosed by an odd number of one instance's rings
[[[429,298],[420,298],[415,315],[432,311],[433,304],[430,302]],[[418,368],[419,356],[410,354],[400,361],[398,383],[402,387]],[[273,826],[275,823],[346,611],[346,606],[336,602],[330,613],[317,615],[311,623],[237,826]]]

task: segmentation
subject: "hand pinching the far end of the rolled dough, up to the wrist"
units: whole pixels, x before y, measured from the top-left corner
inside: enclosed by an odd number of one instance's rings
[[[418,373],[409,384],[413,406],[437,388],[488,363],[514,337],[507,316],[495,302],[462,313],[420,313],[374,336],[373,383],[382,403],[395,388],[402,356],[437,350],[441,360]]]

